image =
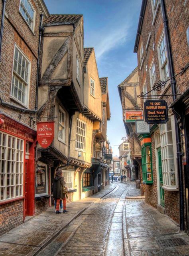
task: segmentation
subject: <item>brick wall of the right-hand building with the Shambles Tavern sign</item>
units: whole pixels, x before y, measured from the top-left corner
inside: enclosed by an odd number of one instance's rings
[[[188,62],[189,47],[187,45],[186,30],[189,26],[189,1],[179,0],[165,0],[167,8],[167,16],[169,20],[169,32],[171,36],[171,48],[173,54],[174,70],[175,74],[181,71]],[[155,70],[156,70],[156,82],[162,80],[159,71],[159,60],[158,60],[158,43],[163,32],[163,20],[161,14],[161,6],[159,6],[158,14],[154,25],[152,24],[153,14],[151,1],[147,1],[146,12],[144,15],[144,22],[142,26],[142,32],[140,36],[137,58],[139,67],[139,82],[140,92],[143,90],[144,81],[146,79],[147,91],[150,88],[150,64],[154,58]],[[148,49],[146,50],[146,43],[148,41],[149,33],[152,36]],[[144,63],[141,66],[140,63],[140,46],[143,44],[144,48]],[[177,93],[182,93],[186,90],[189,84],[189,70],[182,76],[177,76]],[[171,94],[170,82],[167,82],[165,88],[160,90],[158,94]],[[169,105],[173,100],[172,97],[166,99]],[[141,104],[143,100],[141,98]],[[156,207],[158,203],[158,188],[157,188],[157,173],[156,173],[156,152],[154,134],[152,138],[152,166],[153,166],[153,181],[152,185],[145,185],[146,202]],[[143,189],[143,188],[142,188]],[[176,222],[179,222],[179,193],[165,191],[165,212],[173,218]]]

